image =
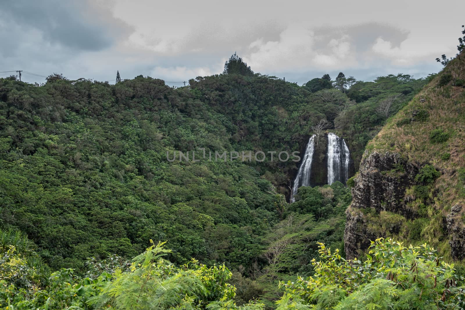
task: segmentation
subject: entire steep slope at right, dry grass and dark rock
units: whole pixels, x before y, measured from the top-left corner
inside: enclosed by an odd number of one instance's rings
[[[461,53],[367,145],[346,211],[347,258],[377,237],[465,258],[464,80]]]

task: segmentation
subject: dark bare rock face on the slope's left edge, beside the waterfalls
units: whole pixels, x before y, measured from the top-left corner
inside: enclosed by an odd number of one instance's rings
[[[405,190],[414,184],[419,169],[407,163],[397,153],[365,154],[360,163],[360,172],[352,188],[352,204],[346,211],[344,233],[345,255],[358,257],[377,236],[367,226],[365,213],[390,211],[413,218],[415,212],[405,207],[409,197]],[[392,227],[392,232],[396,227]]]

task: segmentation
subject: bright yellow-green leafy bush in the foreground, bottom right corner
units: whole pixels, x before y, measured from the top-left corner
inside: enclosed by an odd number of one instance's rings
[[[463,309],[454,265],[427,246],[372,241],[367,259],[345,260],[319,244],[315,275],[282,284],[278,309]],[[460,284],[461,285],[461,284]]]

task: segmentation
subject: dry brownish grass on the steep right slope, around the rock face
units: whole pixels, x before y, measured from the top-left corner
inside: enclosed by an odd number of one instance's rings
[[[441,86],[441,80],[444,81],[447,75],[450,75],[450,81]],[[375,223],[372,225],[382,226],[386,217],[402,222],[405,225],[402,225],[403,229],[395,237],[413,244],[429,242],[436,245],[446,258],[451,258],[451,254],[448,242],[450,236],[447,236],[444,228],[444,217],[453,205],[465,203],[465,88],[455,86],[460,84],[458,79],[465,79],[465,53],[453,59],[407,106],[388,121],[367,145],[364,155],[367,157],[375,151],[381,154],[396,152],[409,163],[428,163],[441,171],[441,176],[434,182],[429,194],[431,199],[429,205],[426,205],[424,218],[407,220],[398,214],[383,214],[382,211],[373,217]],[[424,121],[408,122],[414,111],[426,111],[429,117]],[[433,144],[430,134],[437,129],[446,132],[449,139]],[[448,159],[447,153],[450,154]],[[405,195],[415,198],[413,188],[407,189]],[[415,208],[418,204],[420,203],[416,200],[409,207]],[[465,214],[459,214],[459,217],[459,225],[463,227]],[[417,231],[419,238],[412,237],[413,231]]]

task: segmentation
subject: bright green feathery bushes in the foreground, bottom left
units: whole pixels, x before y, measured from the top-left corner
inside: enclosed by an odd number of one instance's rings
[[[235,287],[224,264],[207,267],[192,260],[176,267],[162,256],[171,252],[153,244],[133,259],[130,270],[117,268],[96,278],[79,278],[72,269],[54,272],[47,285],[14,247],[0,260],[0,309],[262,309],[233,302]]]

